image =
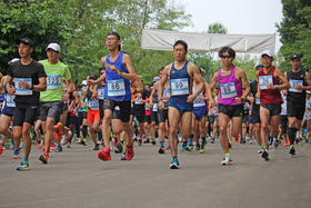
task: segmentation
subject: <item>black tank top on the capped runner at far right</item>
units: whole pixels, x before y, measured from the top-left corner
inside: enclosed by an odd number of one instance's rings
[[[305,78],[305,70],[301,69],[299,72],[293,72],[292,70],[289,70],[287,72],[287,78],[291,85],[291,88],[289,89],[288,93],[288,101],[293,103],[305,103],[305,90],[302,90],[301,92],[298,92],[294,88],[295,83],[299,83],[301,86],[307,86],[304,78]]]

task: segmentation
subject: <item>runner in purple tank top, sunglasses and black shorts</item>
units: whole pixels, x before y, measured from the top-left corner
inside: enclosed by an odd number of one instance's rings
[[[211,93],[217,82],[219,82],[219,139],[224,151],[224,158],[221,165],[227,166],[232,164],[228,147],[229,138],[227,137],[229,119],[231,118],[232,120],[232,136],[237,138],[241,132],[243,103],[250,93],[250,86],[244,70],[232,63],[235,58],[235,51],[233,49],[224,47],[220,49],[218,55],[221,58],[223,68],[213,75],[208,95],[210,102],[213,105],[214,100]],[[244,92],[242,92],[242,86],[245,88]]]

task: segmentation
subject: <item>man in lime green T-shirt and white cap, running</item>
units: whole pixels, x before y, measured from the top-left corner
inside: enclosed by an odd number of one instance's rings
[[[71,75],[68,66],[58,60],[60,56],[60,46],[58,43],[50,43],[47,47],[48,59],[39,61],[43,65],[47,72],[47,90],[40,92],[40,118],[42,123],[42,129],[44,133],[44,146],[43,153],[39,157],[43,164],[48,162],[50,146],[54,140],[53,137],[56,131],[58,135],[61,132],[61,125],[53,127],[54,122],[59,121],[62,113],[62,100],[68,100],[72,97],[73,83],[71,80]],[[63,95],[62,79],[68,81],[68,93]],[[60,142],[60,137],[57,138],[58,143]],[[62,148],[59,146],[58,151]]]

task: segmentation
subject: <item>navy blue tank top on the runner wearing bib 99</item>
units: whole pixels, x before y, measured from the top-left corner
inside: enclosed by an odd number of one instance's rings
[[[177,70],[174,62],[170,71],[171,97],[170,99],[188,100],[189,95],[192,95],[192,78],[188,75],[188,62],[185,61],[182,69]]]

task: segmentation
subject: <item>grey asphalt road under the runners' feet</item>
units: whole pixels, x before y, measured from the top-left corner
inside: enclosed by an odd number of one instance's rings
[[[233,165],[221,166],[219,140],[208,151],[179,151],[180,169],[171,170],[171,153],[158,153],[150,143],[138,147],[131,161],[112,153],[101,161],[91,141],[51,152],[49,164],[32,148],[30,170],[17,171],[12,151],[0,156],[0,208],[56,207],[311,207],[311,145],[270,149],[270,161],[255,143],[233,141]],[[168,145],[168,141],[165,141]],[[179,145],[180,148],[180,145]]]

